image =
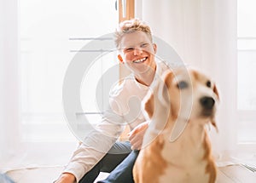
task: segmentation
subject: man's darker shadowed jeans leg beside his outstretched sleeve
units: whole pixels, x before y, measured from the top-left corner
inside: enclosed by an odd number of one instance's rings
[[[131,152],[130,142],[116,142],[109,152],[92,168],[79,183],[93,183],[100,172],[111,172]]]

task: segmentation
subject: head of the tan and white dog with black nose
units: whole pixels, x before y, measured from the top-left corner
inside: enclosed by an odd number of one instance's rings
[[[211,122],[217,129],[215,113],[219,96],[216,84],[194,69],[179,68],[166,71],[153,92],[144,101],[150,119],[164,117],[186,122]]]

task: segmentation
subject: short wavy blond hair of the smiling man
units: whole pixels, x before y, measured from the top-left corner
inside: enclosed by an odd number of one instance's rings
[[[132,33],[134,31],[144,31],[152,42],[152,32],[145,22],[138,19],[125,20],[119,24],[119,27],[115,31],[116,48],[119,49],[121,39],[125,34]]]

